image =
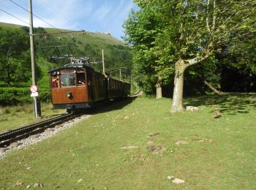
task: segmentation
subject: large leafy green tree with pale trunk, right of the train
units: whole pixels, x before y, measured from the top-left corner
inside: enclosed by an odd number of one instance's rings
[[[246,39],[255,37],[256,2],[253,0],[136,0],[135,3],[140,10],[132,11],[124,23],[126,41],[140,58],[151,54],[157,58],[157,61],[150,60],[152,70],[159,67],[158,63],[162,64],[162,68],[175,70],[171,112],[184,110],[184,71],[188,67],[195,64],[211,65],[217,53],[225,50],[230,55],[235,52],[249,55],[241,47],[248,47]],[[153,23],[147,17],[152,9],[157,15]],[[150,36],[154,40],[151,40],[149,52],[140,54],[143,47],[148,47],[148,41],[144,40],[148,35],[141,31],[146,23],[154,28]],[[238,65],[236,61],[233,64]],[[252,62],[249,65],[251,69],[254,68]],[[146,75],[150,76],[151,73]]]

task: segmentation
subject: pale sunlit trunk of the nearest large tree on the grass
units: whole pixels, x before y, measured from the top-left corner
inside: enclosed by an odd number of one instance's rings
[[[175,77],[174,77],[174,89],[173,89],[173,104],[170,112],[182,112],[184,111],[183,105],[183,86],[184,86],[184,71],[187,65],[181,58],[175,64]]]

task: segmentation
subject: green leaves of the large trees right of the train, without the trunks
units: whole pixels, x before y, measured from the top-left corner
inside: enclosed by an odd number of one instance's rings
[[[206,55],[210,55],[208,60],[200,61],[204,69],[193,67],[195,71],[190,75],[200,73],[210,82],[219,83],[217,59],[237,69],[245,66],[251,72],[256,70],[256,1],[135,2],[140,10],[131,12],[124,28],[135,54],[133,61],[141,65],[137,71],[143,74],[138,73],[138,80],[143,80],[141,75],[167,78],[179,58],[201,60]]]

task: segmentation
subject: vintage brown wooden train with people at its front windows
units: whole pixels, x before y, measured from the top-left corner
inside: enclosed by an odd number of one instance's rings
[[[67,109],[69,113],[128,96],[130,93],[129,83],[96,72],[88,64],[67,64],[48,73],[53,108]]]

